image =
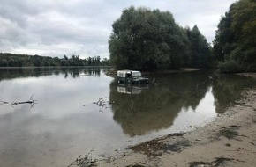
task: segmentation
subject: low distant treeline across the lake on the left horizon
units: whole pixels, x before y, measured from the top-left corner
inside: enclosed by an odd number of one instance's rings
[[[48,66],[108,66],[109,60],[100,56],[80,59],[79,55],[68,58],[27,54],[0,53],[0,67],[48,67]]]

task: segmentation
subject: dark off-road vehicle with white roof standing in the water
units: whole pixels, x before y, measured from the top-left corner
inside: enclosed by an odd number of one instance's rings
[[[117,80],[119,84],[148,84],[147,77],[142,77],[140,71],[136,70],[118,70]]]

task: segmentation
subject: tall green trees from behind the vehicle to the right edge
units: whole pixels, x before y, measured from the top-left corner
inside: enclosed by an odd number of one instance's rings
[[[231,4],[211,47],[197,25],[182,27],[169,11],[131,6],[112,25],[110,63],[117,69],[256,71],[255,11],[255,0]]]

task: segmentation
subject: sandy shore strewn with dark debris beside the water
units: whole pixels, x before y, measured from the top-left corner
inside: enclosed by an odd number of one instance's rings
[[[205,127],[143,142],[124,156],[97,162],[105,167],[252,167],[256,164],[256,90]]]

